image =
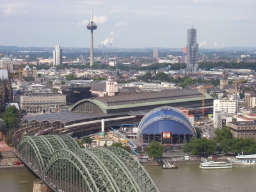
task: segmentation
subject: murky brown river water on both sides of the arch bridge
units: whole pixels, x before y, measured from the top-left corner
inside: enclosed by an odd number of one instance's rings
[[[178,165],[177,170],[145,166],[161,192],[255,191],[256,165],[233,165],[227,170],[200,170],[198,164]],[[33,192],[31,172],[0,172],[0,191]]]

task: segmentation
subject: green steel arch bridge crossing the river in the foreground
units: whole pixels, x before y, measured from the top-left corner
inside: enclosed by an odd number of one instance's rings
[[[53,191],[159,191],[143,166],[118,147],[80,148],[65,134],[24,136],[17,156]]]

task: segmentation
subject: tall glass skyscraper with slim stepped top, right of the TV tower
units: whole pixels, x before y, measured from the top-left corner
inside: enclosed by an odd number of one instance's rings
[[[196,29],[188,29],[187,45],[187,69],[188,72],[198,71],[198,44],[196,44]]]

